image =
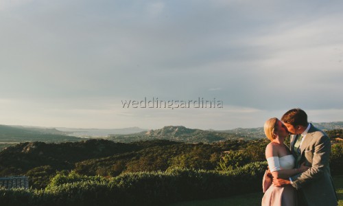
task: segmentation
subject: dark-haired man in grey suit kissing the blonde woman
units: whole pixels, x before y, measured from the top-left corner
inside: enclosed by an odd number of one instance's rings
[[[287,111],[281,121],[292,134],[290,150],[296,159],[296,168],[304,162],[310,168],[289,180],[274,179],[274,185],[292,184],[297,190],[298,205],[338,205],[329,168],[330,138],[309,124],[307,114],[300,108]]]

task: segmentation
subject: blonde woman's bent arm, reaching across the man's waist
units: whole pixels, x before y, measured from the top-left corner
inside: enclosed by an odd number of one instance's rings
[[[272,176],[275,179],[287,179],[289,176],[305,172],[308,169],[308,167],[303,164],[298,169],[281,170],[277,148],[272,144],[268,144],[267,148],[265,148],[265,158],[268,161],[270,172],[272,172]]]

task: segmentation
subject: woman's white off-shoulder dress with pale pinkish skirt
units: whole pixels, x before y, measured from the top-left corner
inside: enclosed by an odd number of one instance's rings
[[[279,164],[278,164],[279,163]],[[278,170],[289,170],[294,168],[295,159],[293,155],[268,158],[271,172]],[[262,198],[262,206],[294,206],[296,205],[296,190],[292,185],[275,187],[270,185]]]

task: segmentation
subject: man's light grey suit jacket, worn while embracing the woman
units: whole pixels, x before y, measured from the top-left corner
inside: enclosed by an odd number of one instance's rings
[[[294,149],[295,137],[296,135],[291,136],[291,152]],[[305,162],[305,165],[311,168],[292,176],[292,186],[300,190],[308,205],[338,205],[329,168],[330,138],[311,124],[300,146],[300,152],[300,163]]]

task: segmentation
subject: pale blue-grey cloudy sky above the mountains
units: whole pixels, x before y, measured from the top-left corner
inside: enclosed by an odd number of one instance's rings
[[[342,9],[0,0],[0,124],[226,130],[298,107],[311,122],[343,121]]]

